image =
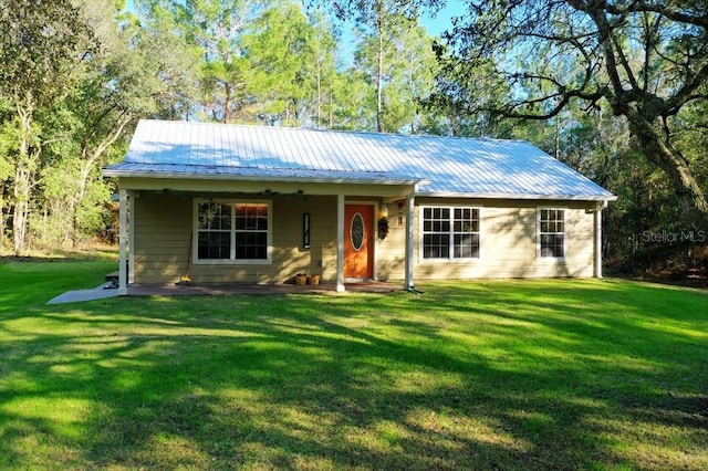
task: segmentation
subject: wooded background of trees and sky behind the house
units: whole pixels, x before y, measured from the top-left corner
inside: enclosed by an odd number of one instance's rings
[[[139,118],[519,138],[618,196],[614,272],[708,272],[708,1],[0,0],[0,247],[115,238]]]

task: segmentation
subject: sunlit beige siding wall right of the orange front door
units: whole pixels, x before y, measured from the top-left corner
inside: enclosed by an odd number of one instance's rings
[[[593,275],[594,209],[587,201],[469,200],[416,198],[414,259],[416,280],[473,278],[553,278]],[[480,258],[472,261],[429,261],[420,255],[420,207],[465,206],[480,208]],[[563,260],[538,257],[538,208],[565,209],[566,252]],[[392,205],[389,205],[392,208]],[[389,211],[388,237],[378,242],[382,280],[404,278],[405,221],[398,224],[397,208]]]

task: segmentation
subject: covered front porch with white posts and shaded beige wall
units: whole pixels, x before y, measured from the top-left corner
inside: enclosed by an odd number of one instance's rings
[[[381,279],[403,280],[398,289],[410,290],[417,184],[381,179],[372,182],[123,177],[118,293],[131,295],[146,285],[162,286],[164,291],[167,286],[180,286],[175,283],[185,275],[196,282],[181,286],[187,292],[197,285],[215,290],[231,284],[232,290],[244,290],[242,285],[252,286],[252,291],[262,291],[262,285],[282,285],[287,290],[292,285],[285,282],[300,271],[320,272],[322,285],[313,290],[344,292],[361,286],[350,282]],[[235,260],[233,249],[231,259],[205,258],[211,255],[205,255],[200,245],[204,234],[199,212],[201,206],[212,201],[217,206],[254,201],[264,207],[268,253],[262,260]],[[396,220],[395,234],[389,240],[378,240],[376,224],[382,209],[393,201],[398,201],[397,211],[391,217]],[[362,278],[352,278],[347,265],[353,229],[346,214],[354,203],[372,208],[366,237],[372,239],[373,270]],[[396,270],[391,269],[394,262],[389,259],[395,259]]]

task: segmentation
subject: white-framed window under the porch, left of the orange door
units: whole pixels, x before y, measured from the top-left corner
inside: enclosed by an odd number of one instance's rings
[[[197,260],[269,261],[270,203],[197,202]]]

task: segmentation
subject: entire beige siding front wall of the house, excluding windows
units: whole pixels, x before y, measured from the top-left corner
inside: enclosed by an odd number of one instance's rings
[[[195,195],[139,191],[132,207],[134,224],[134,282],[173,283],[187,272],[194,228]],[[239,199],[237,196],[228,198]],[[195,282],[280,283],[298,272],[321,274],[323,282],[336,280],[336,197],[273,196],[272,263],[195,263],[189,275]],[[357,196],[356,201],[381,202],[381,198]],[[426,261],[419,254],[419,208],[427,205],[480,208],[481,254],[473,261]],[[538,208],[564,208],[566,257],[563,260],[537,257]],[[592,202],[509,201],[417,198],[414,237],[416,280],[470,278],[549,278],[593,275]],[[405,219],[398,220],[396,201],[388,201],[389,232],[376,239],[376,273],[379,280],[398,281],[405,275]],[[302,214],[311,217],[311,248],[302,247]],[[406,213],[405,208],[400,212]]]

